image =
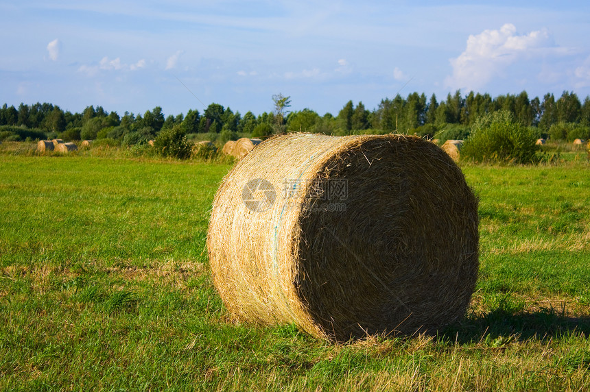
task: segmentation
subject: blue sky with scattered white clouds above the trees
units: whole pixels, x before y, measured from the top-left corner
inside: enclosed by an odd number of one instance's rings
[[[220,103],[241,114],[373,110],[397,93],[439,99],[590,95],[582,1],[0,1],[0,104],[165,115]]]

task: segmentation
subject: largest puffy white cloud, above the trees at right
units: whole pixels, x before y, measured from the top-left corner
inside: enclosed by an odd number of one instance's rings
[[[547,30],[518,35],[515,25],[506,23],[499,30],[469,36],[465,51],[450,60],[453,75],[445,83],[452,88],[477,90],[510,64],[541,58],[555,50]]]

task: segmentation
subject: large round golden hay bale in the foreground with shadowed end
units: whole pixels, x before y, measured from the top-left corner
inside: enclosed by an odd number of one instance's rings
[[[207,248],[228,311],[321,339],[460,319],[477,279],[477,199],[414,136],[276,136],[215,195]]]

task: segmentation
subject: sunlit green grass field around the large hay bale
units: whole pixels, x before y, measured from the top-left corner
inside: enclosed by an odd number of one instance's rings
[[[1,390],[590,390],[585,159],[463,167],[480,197],[467,317],[333,345],[226,314],[204,244],[229,164],[7,151]]]

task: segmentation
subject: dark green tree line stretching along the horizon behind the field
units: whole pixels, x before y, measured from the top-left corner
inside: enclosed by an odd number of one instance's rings
[[[143,114],[107,112],[102,106],[88,106],[81,113],[62,110],[51,103],[21,103],[18,108],[0,108],[0,140],[61,137],[65,140],[108,138],[123,145],[143,143],[167,128],[179,127],[185,134],[210,134],[211,139],[230,139],[238,134],[261,137],[285,131],[325,134],[388,133],[418,134],[427,137],[464,138],[480,117],[493,112],[510,112],[526,127],[534,127],[539,137],[590,138],[590,97],[564,91],[560,97],[547,93],[530,99],[526,91],[518,95],[485,93],[462,95],[460,90],[445,99],[436,95],[410,93],[382,99],[368,110],[362,102],[348,101],[336,116],[320,116],[311,109],[289,112],[290,97],[274,95],[274,110],[241,115],[219,103],[200,112],[165,115],[156,106]],[[44,136],[45,134],[45,136]]]

